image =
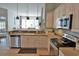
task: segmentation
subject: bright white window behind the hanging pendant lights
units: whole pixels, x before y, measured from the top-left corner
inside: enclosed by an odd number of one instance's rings
[[[26,29],[39,29],[39,20],[36,20],[36,17],[30,17],[29,20],[26,17],[22,18],[21,27]]]

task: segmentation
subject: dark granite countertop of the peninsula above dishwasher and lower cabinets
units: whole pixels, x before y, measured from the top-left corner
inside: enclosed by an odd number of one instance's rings
[[[32,36],[48,36],[44,31],[27,31],[27,30],[11,30],[10,35],[32,35]]]

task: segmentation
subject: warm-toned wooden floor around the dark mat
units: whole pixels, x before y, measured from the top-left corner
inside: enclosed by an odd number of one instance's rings
[[[6,48],[5,46],[0,45],[0,56],[45,56],[46,51],[41,49],[38,53],[18,53],[20,49],[16,48]],[[42,54],[42,55],[40,55]]]

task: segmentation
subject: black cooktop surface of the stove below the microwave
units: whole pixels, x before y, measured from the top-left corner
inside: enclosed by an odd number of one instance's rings
[[[61,41],[59,41],[59,39],[57,39],[57,38],[53,38],[53,39],[51,39],[51,42],[57,48],[59,48],[59,47],[76,47],[76,43],[67,38],[62,38]]]

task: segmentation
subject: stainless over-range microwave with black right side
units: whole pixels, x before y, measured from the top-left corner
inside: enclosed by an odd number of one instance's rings
[[[57,18],[56,28],[71,29],[72,28],[72,14]]]

